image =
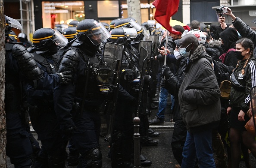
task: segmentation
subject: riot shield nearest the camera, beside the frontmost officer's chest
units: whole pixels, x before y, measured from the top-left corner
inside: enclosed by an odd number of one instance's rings
[[[106,104],[105,114],[107,117],[107,134],[106,141],[111,145],[112,135],[113,135],[113,123],[115,118],[116,111],[116,101],[117,94],[119,89],[119,76],[121,74],[121,63],[122,56],[124,53],[124,45],[106,42],[104,46],[103,59],[104,62],[111,67],[112,72],[110,73],[109,84],[111,84],[111,88],[113,89],[112,99],[109,99]]]

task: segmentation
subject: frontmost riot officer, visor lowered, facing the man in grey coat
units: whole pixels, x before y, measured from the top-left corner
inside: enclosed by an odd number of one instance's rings
[[[106,64],[99,46],[110,34],[94,19],[80,21],[76,31],[77,39],[59,66],[59,72],[71,70],[74,79],[67,86],[55,88],[54,106],[61,129],[72,136],[81,154],[78,168],[101,168],[99,107],[104,97],[99,85],[104,83],[100,71]]]

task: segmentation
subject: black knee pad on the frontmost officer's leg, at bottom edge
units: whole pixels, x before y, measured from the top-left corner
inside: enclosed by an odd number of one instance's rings
[[[97,148],[94,148],[94,149],[91,149],[87,156],[86,156],[86,161],[87,161],[87,164],[90,168],[101,168],[102,167],[102,154],[101,154],[101,151],[100,149],[97,147]]]

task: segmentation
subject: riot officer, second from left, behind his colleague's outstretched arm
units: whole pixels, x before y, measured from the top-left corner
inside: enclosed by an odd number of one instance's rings
[[[34,59],[38,66],[47,74],[56,74],[58,59],[53,57],[57,45],[65,47],[68,40],[57,30],[41,28],[33,34]],[[56,45],[57,44],[57,45]],[[55,79],[58,80],[58,79]],[[62,131],[53,106],[53,89],[35,90],[28,85],[27,102],[31,106],[30,118],[38,140],[47,152],[50,168],[64,168],[66,159],[66,144],[68,139],[62,138]],[[66,141],[65,141],[66,140]]]

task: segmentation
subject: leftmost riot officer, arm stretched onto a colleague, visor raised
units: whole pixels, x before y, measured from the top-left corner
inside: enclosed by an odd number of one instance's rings
[[[47,75],[38,66],[32,55],[22,45],[8,43],[12,27],[21,29],[18,21],[5,16],[6,69],[5,69],[5,111],[6,111],[6,155],[16,168],[31,168],[32,145],[28,132],[28,107],[26,105],[23,81],[37,89],[59,83],[59,75]],[[58,78],[54,81],[53,78]]]

